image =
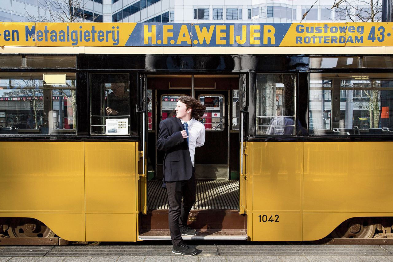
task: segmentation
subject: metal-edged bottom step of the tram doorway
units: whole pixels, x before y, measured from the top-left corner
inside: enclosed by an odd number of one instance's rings
[[[182,236],[185,240],[247,240],[245,230],[201,230],[196,236]],[[169,230],[150,230],[140,233],[139,240],[171,240]]]

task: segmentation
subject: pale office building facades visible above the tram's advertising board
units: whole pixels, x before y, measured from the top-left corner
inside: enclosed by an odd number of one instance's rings
[[[68,22],[62,13],[70,12],[68,0],[2,0],[0,22]],[[348,0],[354,2],[354,0]],[[78,1],[77,1],[78,2]],[[238,5],[236,5],[238,4]],[[195,5],[191,0],[82,0],[72,11],[79,20],[74,22],[194,22],[204,20],[242,20],[244,22],[300,22],[305,20],[320,22],[370,21],[369,5],[356,5],[352,9],[331,9],[331,3],[324,1],[308,5],[305,0],[288,3],[260,1],[229,2],[210,0],[203,5]],[[376,7],[375,7],[376,8]],[[67,11],[68,10],[68,11]],[[169,12],[169,13],[168,13]],[[176,13],[176,17],[175,14]],[[54,15],[53,15],[54,14]],[[375,22],[380,21],[380,13]],[[251,21],[249,21],[251,20]]]

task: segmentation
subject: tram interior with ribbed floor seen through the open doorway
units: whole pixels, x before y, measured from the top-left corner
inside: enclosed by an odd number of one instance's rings
[[[239,207],[239,75],[148,75],[148,209],[168,209],[162,188],[165,152],[156,149],[160,121],[176,117],[177,98],[191,95],[207,106],[199,119],[206,128],[195,150],[197,180],[193,210]]]

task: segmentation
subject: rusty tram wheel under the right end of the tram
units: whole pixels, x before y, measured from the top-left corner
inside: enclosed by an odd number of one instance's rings
[[[371,218],[350,218],[332,232],[333,238],[373,238],[375,224]]]

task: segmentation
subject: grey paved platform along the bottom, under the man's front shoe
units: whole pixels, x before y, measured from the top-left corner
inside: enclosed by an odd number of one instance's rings
[[[393,262],[384,245],[192,245],[192,257],[168,245],[1,246],[0,262]]]

